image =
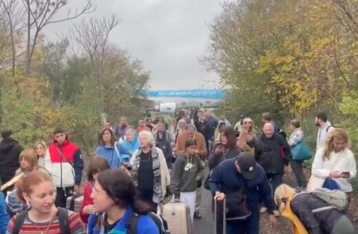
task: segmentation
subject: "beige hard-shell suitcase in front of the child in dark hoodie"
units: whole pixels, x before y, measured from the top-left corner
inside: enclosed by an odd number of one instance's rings
[[[162,217],[167,221],[171,234],[191,234],[190,211],[187,204],[182,202],[165,204]]]

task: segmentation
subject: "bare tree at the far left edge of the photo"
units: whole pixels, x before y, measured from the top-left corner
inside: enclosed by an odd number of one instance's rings
[[[19,25],[22,21],[23,10],[18,7],[18,1],[16,0],[0,0],[0,8],[3,9],[3,12],[8,18],[8,28],[10,34],[10,43],[11,43],[11,54],[12,54],[12,76],[15,76],[15,67],[16,67],[16,40],[15,34],[17,34]]]

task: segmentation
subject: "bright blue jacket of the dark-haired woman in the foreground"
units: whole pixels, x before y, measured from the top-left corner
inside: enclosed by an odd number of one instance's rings
[[[127,209],[123,218],[118,222],[118,224],[112,230],[105,230],[104,227],[98,228],[96,225],[96,220],[98,214],[91,215],[88,220],[88,234],[107,234],[107,233],[127,233],[127,224],[131,220],[132,215],[134,215],[133,208]],[[103,215],[107,219],[107,215]],[[149,215],[140,215],[138,220],[137,227],[138,234],[159,234],[158,226],[154,221],[149,217]]]

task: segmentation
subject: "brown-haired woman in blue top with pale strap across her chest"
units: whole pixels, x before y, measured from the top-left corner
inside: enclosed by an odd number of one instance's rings
[[[129,161],[132,153],[123,147],[123,144],[116,142],[116,136],[111,129],[103,129],[101,145],[96,154],[105,158],[112,169],[119,169],[121,164]],[[121,158],[121,154],[125,156]]]

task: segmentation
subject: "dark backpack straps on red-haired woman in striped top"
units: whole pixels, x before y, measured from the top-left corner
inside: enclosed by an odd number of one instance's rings
[[[67,209],[64,209],[62,207],[58,207],[57,209],[59,209],[59,222],[60,222],[61,233],[71,233],[70,222],[68,221]],[[16,222],[14,224],[14,228],[12,229],[12,234],[20,233],[27,213],[28,212],[19,213],[16,216]]]

